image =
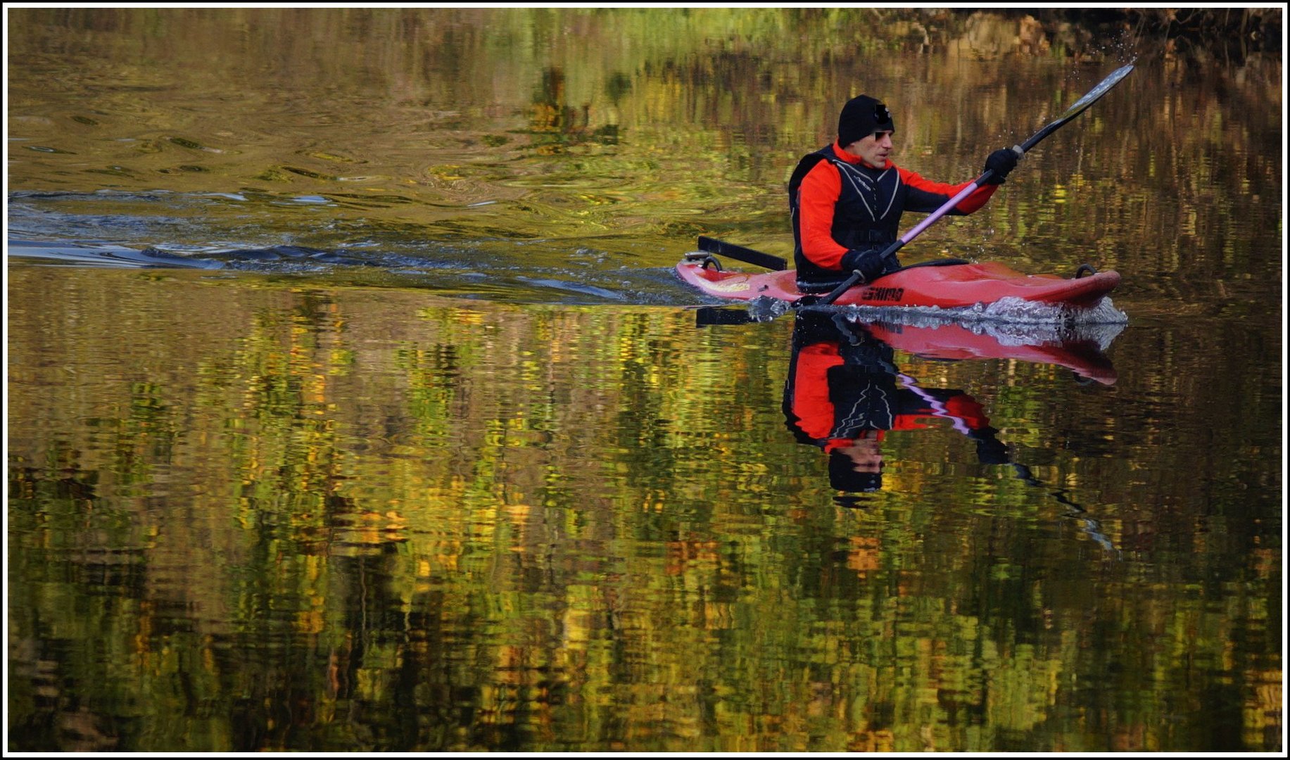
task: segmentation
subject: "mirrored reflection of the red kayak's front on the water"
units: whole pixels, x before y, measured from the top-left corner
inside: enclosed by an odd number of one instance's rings
[[[1064,366],[1102,385],[1115,385],[1116,368],[1091,338],[1035,338],[1001,341],[957,324],[911,326],[869,323],[866,329],[877,339],[915,356],[928,359],[1015,359]]]

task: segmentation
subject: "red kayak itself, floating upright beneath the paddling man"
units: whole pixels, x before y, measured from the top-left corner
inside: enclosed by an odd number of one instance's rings
[[[778,272],[733,272],[704,268],[703,261],[685,259],[676,265],[682,280],[707,295],[751,301],[757,297],[796,301],[802,297],[792,270]],[[837,306],[939,306],[953,308],[1020,298],[1077,307],[1095,306],[1120,284],[1120,274],[1108,270],[1086,277],[1023,275],[1001,263],[912,266],[868,285],[842,293]]]

